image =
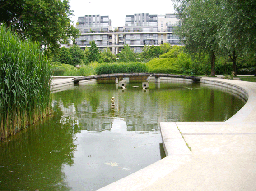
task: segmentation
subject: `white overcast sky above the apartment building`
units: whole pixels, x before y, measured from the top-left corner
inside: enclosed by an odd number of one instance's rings
[[[174,13],[171,0],[70,0],[70,10],[74,11],[74,16],[71,17],[74,24],[78,17],[99,14],[109,15],[113,27],[125,25],[126,15]]]

